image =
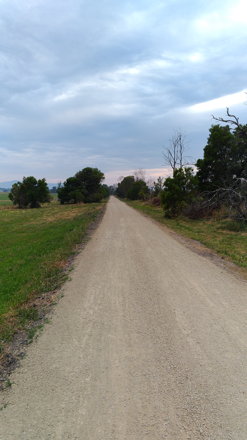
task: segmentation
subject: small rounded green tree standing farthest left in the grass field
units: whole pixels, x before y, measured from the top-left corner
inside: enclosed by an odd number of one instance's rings
[[[36,180],[35,177],[23,177],[22,182],[14,183],[8,197],[14,205],[36,208],[40,203],[49,203],[51,195],[45,179]]]

